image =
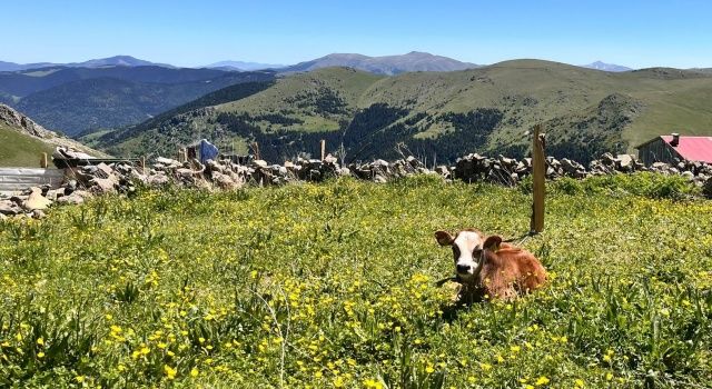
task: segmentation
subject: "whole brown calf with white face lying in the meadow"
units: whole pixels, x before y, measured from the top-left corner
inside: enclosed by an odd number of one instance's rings
[[[540,288],[546,270],[533,253],[502,242],[502,237],[486,237],[475,229],[435,232],[441,246],[452,246],[461,300],[483,298],[511,300]]]

